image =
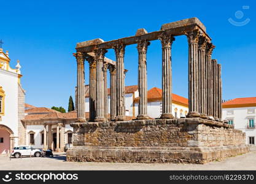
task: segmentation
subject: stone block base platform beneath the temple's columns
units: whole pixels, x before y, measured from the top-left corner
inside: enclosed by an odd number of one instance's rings
[[[245,134],[201,118],[73,123],[67,161],[208,163],[249,152]]]

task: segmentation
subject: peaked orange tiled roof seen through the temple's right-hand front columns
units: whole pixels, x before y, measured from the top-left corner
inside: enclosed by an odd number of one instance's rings
[[[173,102],[177,102],[183,105],[188,105],[188,99],[177,94],[172,94]],[[157,101],[162,99],[162,90],[160,88],[152,88],[147,91],[148,101]],[[134,99],[135,102],[138,102],[139,98]]]

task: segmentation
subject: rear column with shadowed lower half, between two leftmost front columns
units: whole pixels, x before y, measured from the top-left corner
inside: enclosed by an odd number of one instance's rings
[[[95,120],[95,96],[96,96],[96,62],[95,58],[90,55],[85,55],[90,67],[90,82],[89,82],[89,113],[90,121]]]

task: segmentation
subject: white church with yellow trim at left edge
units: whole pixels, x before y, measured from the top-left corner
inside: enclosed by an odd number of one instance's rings
[[[9,53],[0,48],[0,154],[7,153],[24,138],[25,91],[21,88],[20,64],[10,67]]]

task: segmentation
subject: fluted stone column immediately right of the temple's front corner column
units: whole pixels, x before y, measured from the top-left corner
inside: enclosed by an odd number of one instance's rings
[[[198,66],[199,66],[199,113],[201,118],[207,118],[206,116],[206,37],[200,36],[198,40]]]

